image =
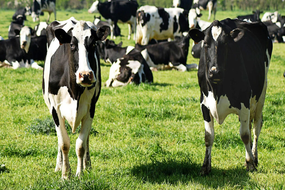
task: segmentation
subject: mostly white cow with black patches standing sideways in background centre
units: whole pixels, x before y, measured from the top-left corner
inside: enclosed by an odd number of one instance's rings
[[[164,40],[181,37],[188,32],[188,11],[144,5],[137,10],[136,44],[146,45],[154,38]]]

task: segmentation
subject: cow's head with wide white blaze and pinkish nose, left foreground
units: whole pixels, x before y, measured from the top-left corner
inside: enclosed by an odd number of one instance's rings
[[[91,22],[79,21],[74,28],[66,33],[56,29],[54,34],[60,44],[68,44],[70,64],[76,75],[76,83],[88,87],[96,82],[94,70],[97,70],[97,40],[105,40],[110,34],[109,26],[101,26],[97,31]]]

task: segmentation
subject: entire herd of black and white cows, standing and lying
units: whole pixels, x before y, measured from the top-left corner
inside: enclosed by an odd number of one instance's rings
[[[55,13],[55,1],[41,2],[34,1],[31,11],[34,20],[41,11]],[[189,2],[174,0],[174,7],[161,8],[139,7],[134,0],[104,3],[97,0],[88,12],[100,13],[106,21],[97,17],[92,23],[71,17],[50,24],[40,22],[34,29],[24,26],[27,9],[13,15],[15,21],[9,27],[9,39],[0,40],[0,61],[13,68],[42,69],[33,60],[44,60],[44,101],[58,134],[55,171],[62,170],[63,178],[70,177],[71,173],[65,119],[73,132],[82,123],[76,140],[76,176],[82,169],[91,167],[89,132],[101,91],[100,58],[112,64],[107,87],[152,82],[152,70],[198,68],[206,146],[200,173],[206,175],[211,171],[213,119],[222,124],[230,113],[239,116],[247,171],[256,170],[272,40],[283,42],[284,16],[277,12],[265,13],[260,22],[260,11],[255,11],[239,19],[209,23],[199,19],[200,9],[208,7],[210,18],[212,10],[215,14],[216,1],[194,0],[193,5]],[[110,33],[121,35],[118,22],[129,24],[128,39],[134,32],[135,46],[122,47],[122,43],[106,39]],[[192,55],[200,58],[199,67],[186,64],[190,38],[195,44]]]

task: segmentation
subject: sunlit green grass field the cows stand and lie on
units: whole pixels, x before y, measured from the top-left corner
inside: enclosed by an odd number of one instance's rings
[[[13,13],[0,11],[4,38]],[[207,18],[207,12],[203,13],[202,19]],[[244,13],[218,11],[216,18]],[[70,16],[93,21],[86,10],[57,12],[58,20]],[[46,18],[47,13],[40,17],[42,21]],[[28,16],[26,25],[36,23]],[[127,25],[119,26],[125,36],[116,43],[134,45],[133,40],[127,40]],[[153,72],[153,84],[102,87],[90,136],[93,169],[80,178],[63,181],[61,172],[54,173],[57,137],[50,128],[52,119],[42,96],[42,71],[1,68],[0,189],[285,189],[284,50],[285,44],[273,45],[258,141],[258,171],[246,172],[239,120],[229,115],[222,125],[215,122],[208,176],[199,175],[205,145],[197,70]],[[188,55],[189,64],[198,62]],[[101,60],[102,83],[109,68]],[[78,133],[70,133],[73,175],[77,137]]]

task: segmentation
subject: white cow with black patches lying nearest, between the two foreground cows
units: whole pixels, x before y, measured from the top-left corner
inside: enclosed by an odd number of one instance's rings
[[[142,82],[152,83],[152,72],[141,52],[133,50],[111,65],[109,78],[104,85],[117,87],[131,83],[138,85]]]

